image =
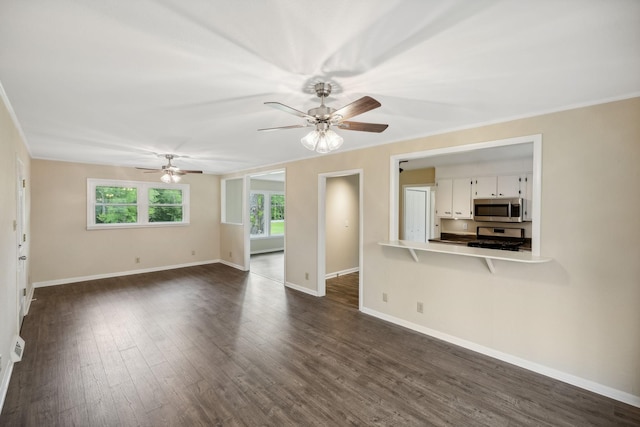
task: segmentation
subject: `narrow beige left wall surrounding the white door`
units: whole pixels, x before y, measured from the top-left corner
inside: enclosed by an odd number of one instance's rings
[[[9,380],[9,354],[13,350],[14,336],[18,331],[18,288],[16,283],[18,236],[14,230],[17,218],[17,162],[24,165],[26,177],[26,224],[27,235],[27,295],[32,292],[29,281],[31,255],[31,229],[29,225],[30,200],[32,183],[30,179],[31,158],[21,134],[11,118],[10,105],[5,100],[4,89],[0,85],[0,353],[3,355],[0,364],[0,401]]]

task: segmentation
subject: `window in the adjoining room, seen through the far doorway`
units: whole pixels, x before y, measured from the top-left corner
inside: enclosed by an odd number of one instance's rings
[[[283,193],[252,191],[249,199],[251,237],[282,236],[284,207]]]

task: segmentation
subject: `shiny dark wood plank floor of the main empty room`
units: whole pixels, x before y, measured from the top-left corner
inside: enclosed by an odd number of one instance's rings
[[[640,425],[640,409],[221,264],[35,292],[2,426]]]

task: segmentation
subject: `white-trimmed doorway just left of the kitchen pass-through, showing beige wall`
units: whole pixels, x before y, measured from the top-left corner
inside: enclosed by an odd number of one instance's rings
[[[357,307],[362,310],[363,171],[318,176],[318,296],[327,279],[357,274]]]

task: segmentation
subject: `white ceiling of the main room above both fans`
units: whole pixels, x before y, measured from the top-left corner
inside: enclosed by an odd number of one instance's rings
[[[640,94],[637,0],[0,0],[0,83],[34,158],[226,173],[318,154],[306,111],[382,107],[342,150]]]

